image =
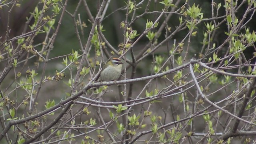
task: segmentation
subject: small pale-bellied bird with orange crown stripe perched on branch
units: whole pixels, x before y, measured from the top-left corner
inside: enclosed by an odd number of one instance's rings
[[[103,70],[100,73],[100,81],[113,81],[117,80],[122,71],[122,62],[118,58],[112,58],[103,66]]]

